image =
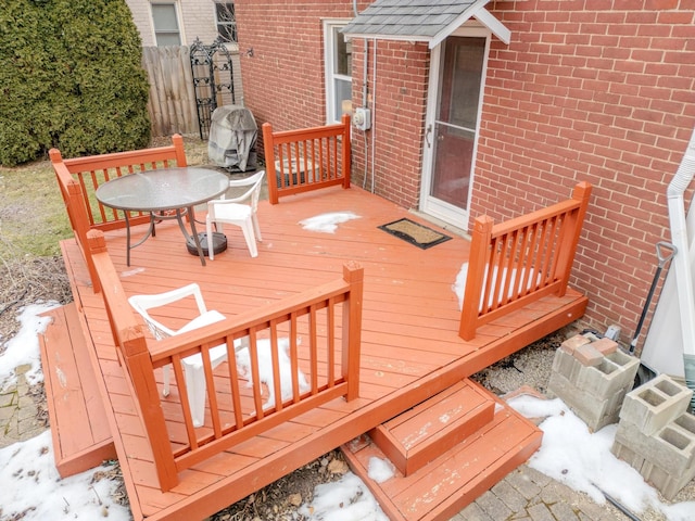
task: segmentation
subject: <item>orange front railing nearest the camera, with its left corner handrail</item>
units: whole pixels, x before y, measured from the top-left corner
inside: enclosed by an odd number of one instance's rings
[[[178,472],[236,444],[330,401],[358,396],[364,274],[357,265],[348,264],[341,280],[148,342],[103,233],[91,230],[88,236],[113,339],[129,374],[163,491],[178,483]],[[226,346],[227,363],[213,370],[208,351],[219,345]],[[189,401],[181,399],[188,392],[182,359],[195,355],[202,357],[207,401],[201,428],[193,425]],[[175,383],[164,398],[156,374],[167,365],[174,368]]]

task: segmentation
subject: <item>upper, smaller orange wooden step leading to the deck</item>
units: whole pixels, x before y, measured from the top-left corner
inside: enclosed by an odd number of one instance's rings
[[[410,475],[492,421],[495,401],[463,380],[378,425],[369,436],[391,462]]]

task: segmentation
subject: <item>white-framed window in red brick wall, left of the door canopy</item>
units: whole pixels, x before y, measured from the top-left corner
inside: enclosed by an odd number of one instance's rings
[[[343,113],[352,111],[352,42],[340,31],[348,22],[324,24],[326,67],[326,120],[340,123]]]

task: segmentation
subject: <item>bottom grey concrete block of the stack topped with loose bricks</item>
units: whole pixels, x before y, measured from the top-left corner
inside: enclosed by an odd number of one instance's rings
[[[618,390],[605,399],[601,399],[557,372],[551,373],[548,382],[548,391],[561,398],[591,431],[598,431],[610,423],[618,422],[620,405],[630,387]]]

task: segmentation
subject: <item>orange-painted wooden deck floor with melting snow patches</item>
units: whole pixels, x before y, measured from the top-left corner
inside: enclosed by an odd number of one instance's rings
[[[359,218],[339,225],[334,233],[299,225],[343,211]],[[468,258],[469,242],[454,237],[420,250],[377,228],[406,216],[421,221],[358,188],[288,196],[277,205],[262,202],[258,256],[251,258],[241,231],[228,227],[229,250],[205,267],[187,252],[176,224],[157,225],[156,237],[132,250],[130,267],[125,231],[106,232],[127,295],[198,282],[208,308],[227,317],[332,281],[346,262],[355,260],[365,270],[359,398],[334,399],[200,462],[181,472],[180,483],[167,493],[157,486],[152,452],[116,356],[102,296],[89,284],[76,242],[62,243],[84,334],[94,347],[90,355],[99,368],[97,387],[104,397],[136,520],[212,514],[583,314],[586,298],[570,289],[563,297],[543,297],[484,325],[473,340],[463,341],[452,287]],[[178,399],[176,393],[170,399]]]

